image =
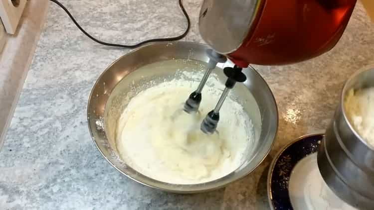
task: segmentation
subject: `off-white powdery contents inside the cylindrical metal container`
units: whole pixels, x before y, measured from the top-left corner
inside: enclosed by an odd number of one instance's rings
[[[355,130],[374,148],[374,87],[350,90],[344,108]]]

